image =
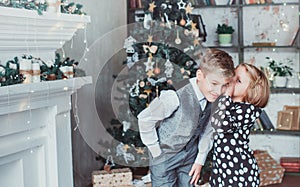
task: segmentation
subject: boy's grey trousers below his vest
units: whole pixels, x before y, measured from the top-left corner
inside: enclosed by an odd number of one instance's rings
[[[194,187],[189,172],[198,153],[197,143],[186,146],[175,156],[150,166],[152,187]]]

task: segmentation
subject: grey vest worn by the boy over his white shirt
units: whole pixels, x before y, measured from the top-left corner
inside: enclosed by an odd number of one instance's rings
[[[192,143],[197,146],[196,140],[207,125],[209,114],[201,117],[199,101],[192,85],[189,83],[176,93],[179,98],[179,107],[169,118],[158,124],[157,134],[162,154],[152,160],[152,164],[175,156],[189,141],[195,141]]]

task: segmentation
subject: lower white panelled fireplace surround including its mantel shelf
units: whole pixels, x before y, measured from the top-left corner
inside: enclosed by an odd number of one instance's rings
[[[0,88],[0,186],[71,187],[71,94],[91,77]]]

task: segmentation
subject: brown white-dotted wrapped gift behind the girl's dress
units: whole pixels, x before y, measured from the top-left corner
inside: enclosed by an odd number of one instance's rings
[[[282,182],[285,169],[267,151],[257,150],[254,156],[260,170],[260,186]]]

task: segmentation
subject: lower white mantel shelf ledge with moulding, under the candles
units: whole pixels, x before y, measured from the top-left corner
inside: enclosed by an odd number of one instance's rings
[[[88,76],[0,87],[0,115],[10,110],[27,110],[28,105],[34,109],[35,106],[32,103],[37,103],[37,106],[49,104],[47,102],[50,97],[70,95],[82,86],[91,83],[92,77]]]

